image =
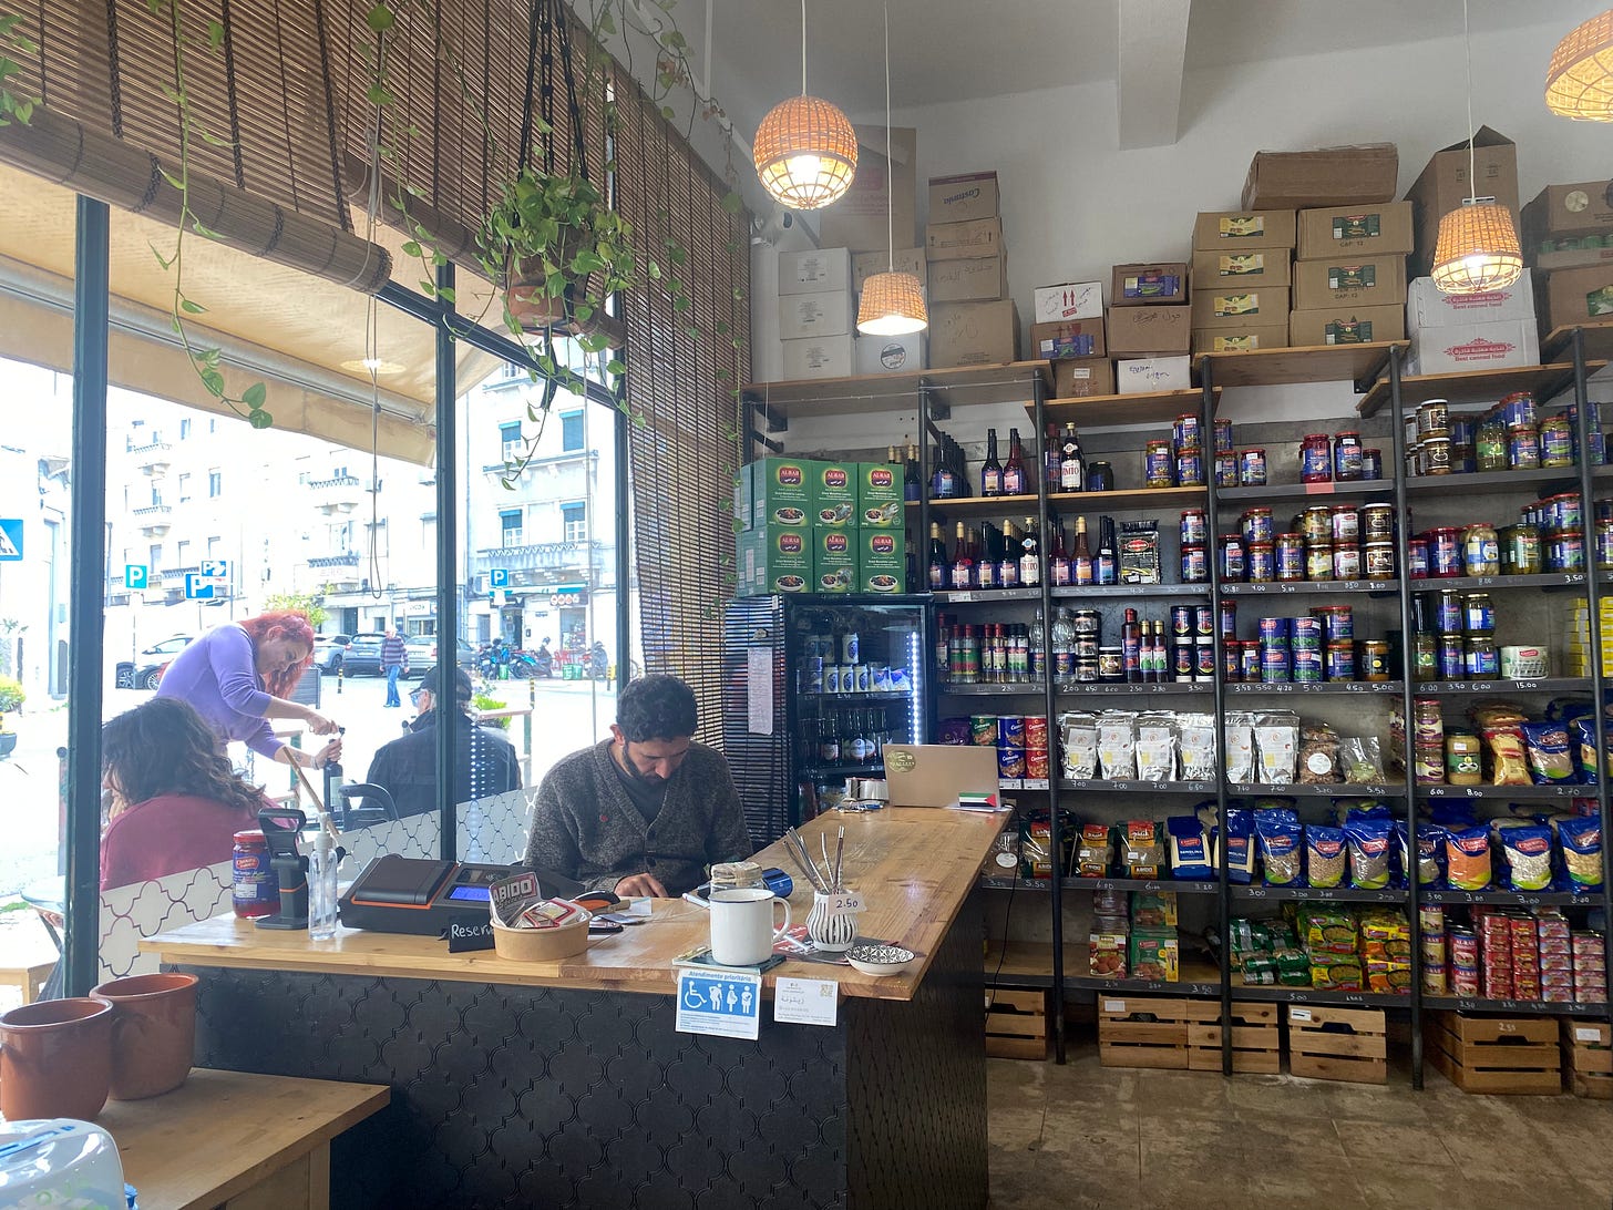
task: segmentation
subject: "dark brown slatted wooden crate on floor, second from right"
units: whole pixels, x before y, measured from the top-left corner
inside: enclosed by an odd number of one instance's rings
[[[1429,1013],[1423,1047],[1463,1092],[1550,1097],[1563,1091],[1558,1023],[1550,1016]]]

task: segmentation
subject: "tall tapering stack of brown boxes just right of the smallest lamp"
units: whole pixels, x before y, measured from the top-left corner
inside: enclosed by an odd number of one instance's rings
[[[934,176],[924,260],[929,360],[936,368],[1019,358],[997,173]]]

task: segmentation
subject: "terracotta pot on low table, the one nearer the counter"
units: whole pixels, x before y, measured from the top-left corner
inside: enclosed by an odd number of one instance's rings
[[[113,1005],[111,1097],[160,1097],[185,1083],[197,1049],[197,976],[131,974],[90,995]]]

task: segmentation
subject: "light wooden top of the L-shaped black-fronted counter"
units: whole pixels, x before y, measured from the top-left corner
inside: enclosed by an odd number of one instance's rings
[[[929,970],[929,960],[952,926],[958,907],[974,887],[992,841],[1011,815],[892,807],[866,815],[827,815],[802,828],[808,849],[818,836],[845,824],[845,884],[860,892],[868,910],[858,921],[865,937],[905,945],[918,955],[911,970],[884,978],[850,966],[786,960],[774,976],[837,979],[847,995],[910,1000]],[[794,923],[805,924],[811,887],[773,844],[756,857],[763,866],[781,866],[795,879],[790,895]],[[705,908],[681,899],[653,900],[647,923],[558,962],[511,962],[492,950],[448,953],[447,942],[395,933],[337,929],[331,941],[308,941],[306,933],[274,933],[232,915],[187,924],[140,942],[166,963],[184,966],[239,966],[260,970],[381,974],[408,979],[455,979],[548,987],[590,987],[669,995],[676,987],[673,958],[710,941]]]

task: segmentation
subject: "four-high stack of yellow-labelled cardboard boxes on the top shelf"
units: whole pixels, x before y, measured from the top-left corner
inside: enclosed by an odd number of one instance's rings
[[[1207,211],[1194,224],[1192,352],[1289,344],[1292,210]]]

